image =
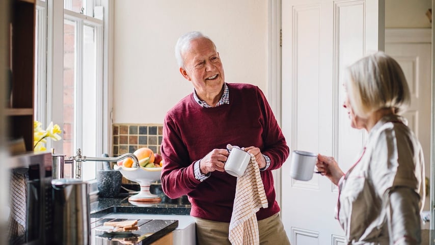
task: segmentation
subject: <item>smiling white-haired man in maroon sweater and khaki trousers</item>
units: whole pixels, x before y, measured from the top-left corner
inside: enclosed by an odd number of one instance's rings
[[[250,84],[225,83],[216,46],[199,32],[181,36],[175,55],[194,91],[165,117],[162,189],[170,198],[188,196],[199,244],[231,244],[237,178],[224,166],[227,144],[240,146],[255,156],[267,198],[268,207],[256,213],[260,244],[290,244],[271,172],[282,166],[289,148],[263,92]]]

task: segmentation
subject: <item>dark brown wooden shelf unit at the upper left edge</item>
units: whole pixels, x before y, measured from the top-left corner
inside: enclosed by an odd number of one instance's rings
[[[10,107],[5,108],[7,137],[23,139],[25,151],[33,152],[35,0],[9,0],[9,3],[9,52],[4,52],[11,71]]]

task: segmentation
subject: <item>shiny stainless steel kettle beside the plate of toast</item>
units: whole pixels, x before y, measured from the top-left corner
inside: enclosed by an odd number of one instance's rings
[[[52,244],[89,244],[91,238],[88,184],[79,179],[52,180]]]

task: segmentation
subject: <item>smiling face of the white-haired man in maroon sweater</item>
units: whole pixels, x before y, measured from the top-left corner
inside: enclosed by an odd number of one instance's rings
[[[225,82],[224,68],[213,43],[206,38],[195,39],[182,57],[184,68],[180,72],[191,81],[198,95],[221,91]]]

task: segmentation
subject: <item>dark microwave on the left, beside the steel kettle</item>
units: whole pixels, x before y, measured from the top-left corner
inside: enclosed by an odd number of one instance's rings
[[[52,236],[51,153],[8,159],[8,244],[49,244]]]

